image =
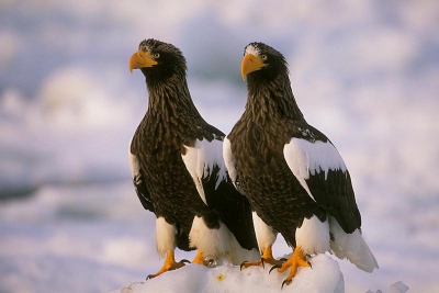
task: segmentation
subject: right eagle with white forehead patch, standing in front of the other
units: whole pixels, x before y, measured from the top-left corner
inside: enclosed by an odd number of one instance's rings
[[[224,159],[233,182],[250,201],[261,259],[290,284],[311,256],[329,251],[372,272],[378,262],[361,234],[349,171],[322,132],[307,124],[291,89],[284,56],[263,43],[245,47],[241,76],[247,103],[224,140]],[[274,259],[278,234],[294,248]],[[270,270],[270,272],[271,272]]]

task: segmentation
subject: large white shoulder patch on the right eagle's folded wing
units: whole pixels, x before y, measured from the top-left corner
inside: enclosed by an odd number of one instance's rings
[[[324,172],[326,180],[328,170],[339,169],[344,172],[347,170],[340,154],[329,140],[309,143],[306,139],[293,137],[283,147],[283,155],[291,171],[313,200],[314,196],[305,181],[309,179],[309,174]]]

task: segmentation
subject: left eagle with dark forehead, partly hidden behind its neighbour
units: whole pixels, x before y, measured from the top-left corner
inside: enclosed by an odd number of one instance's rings
[[[251,207],[234,187],[223,159],[225,134],[196,110],[187,61],[172,44],[149,38],[130,58],[149,94],[148,108],[130,143],[133,183],[143,207],[156,215],[156,247],[165,257],[155,278],[184,266],[175,249],[198,249],[193,263],[234,264],[258,259]]]

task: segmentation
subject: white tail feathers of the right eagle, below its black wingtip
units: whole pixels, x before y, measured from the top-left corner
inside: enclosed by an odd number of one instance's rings
[[[375,257],[365,244],[359,229],[347,234],[331,216],[329,216],[329,226],[334,237],[330,244],[334,255],[339,259],[347,258],[357,268],[367,272],[372,272],[379,268]]]

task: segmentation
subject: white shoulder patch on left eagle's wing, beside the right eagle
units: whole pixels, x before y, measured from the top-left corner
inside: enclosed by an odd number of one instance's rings
[[[194,147],[184,147],[187,151],[185,155],[182,155],[182,158],[185,168],[191,174],[201,199],[207,204],[201,180],[211,174],[210,172],[213,170],[214,166],[219,168],[215,189],[219,185],[221,181],[226,179],[226,168],[223,159],[223,142],[216,139],[212,142],[207,139],[196,139]]]

